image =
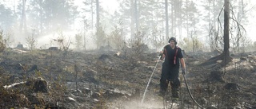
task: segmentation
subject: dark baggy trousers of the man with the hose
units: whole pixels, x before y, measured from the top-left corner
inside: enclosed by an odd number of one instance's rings
[[[178,88],[180,87],[180,81],[178,79],[178,66],[170,67],[163,64],[160,79],[160,91],[165,93],[169,83],[171,86],[172,96],[178,98]]]

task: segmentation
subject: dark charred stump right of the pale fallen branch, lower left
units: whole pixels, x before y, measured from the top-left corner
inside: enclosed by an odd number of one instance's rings
[[[35,80],[34,82],[34,91],[35,92],[42,92],[42,93],[47,93],[47,82],[46,80],[42,80],[39,78],[38,80]]]

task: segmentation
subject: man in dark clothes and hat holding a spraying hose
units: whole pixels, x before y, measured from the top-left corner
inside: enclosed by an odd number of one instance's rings
[[[182,73],[186,72],[186,64],[183,59],[182,49],[178,48],[175,37],[171,37],[161,51],[161,60],[165,59],[162,63],[162,74],[160,79],[160,95],[166,95],[166,89],[170,82],[173,101],[178,101],[180,81],[178,80],[179,63],[182,64]],[[179,61],[180,60],[180,61]]]

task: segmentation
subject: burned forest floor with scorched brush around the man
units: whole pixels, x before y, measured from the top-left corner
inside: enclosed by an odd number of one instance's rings
[[[256,108],[255,54],[234,54],[223,67],[220,60],[203,64],[216,53],[186,53],[186,78],[194,99],[205,108]],[[162,108],[157,95],[162,61],[157,64],[156,52],[6,49],[0,60],[0,108]],[[36,82],[38,78],[46,84]],[[196,108],[182,76],[180,80],[178,107]]]

